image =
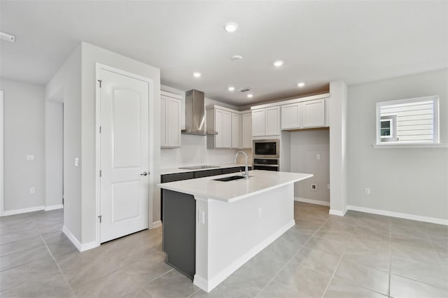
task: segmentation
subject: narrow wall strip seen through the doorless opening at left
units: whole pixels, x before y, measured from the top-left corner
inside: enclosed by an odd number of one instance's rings
[[[45,209],[62,205],[64,183],[64,108],[45,101]]]

